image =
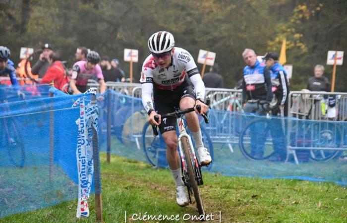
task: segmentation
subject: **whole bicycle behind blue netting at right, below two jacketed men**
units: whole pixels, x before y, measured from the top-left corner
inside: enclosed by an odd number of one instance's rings
[[[264,108],[266,102],[259,104]],[[302,160],[329,161],[341,153],[338,149],[343,142],[341,132],[337,122],[298,118],[288,119],[288,128],[285,128],[282,120],[271,117],[268,111],[266,117],[246,125],[240,134],[239,147],[241,153],[253,161],[267,160],[276,154],[281,156],[278,161],[284,160],[285,156],[288,161],[292,150],[300,151]],[[298,163],[296,153],[294,160]]]

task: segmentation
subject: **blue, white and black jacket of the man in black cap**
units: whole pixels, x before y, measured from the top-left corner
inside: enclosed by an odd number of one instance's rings
[[[272,92],[278,99],[279,105],[284,105],[289,94],[287,72],[280,63],[275,63],[269,69]]]

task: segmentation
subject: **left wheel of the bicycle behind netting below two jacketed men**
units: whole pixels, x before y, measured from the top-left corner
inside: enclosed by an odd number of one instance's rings
[[[266,160],[274,155],[268,119],[255,119],[242,131],[239,137],[240,151],[249,160]]]

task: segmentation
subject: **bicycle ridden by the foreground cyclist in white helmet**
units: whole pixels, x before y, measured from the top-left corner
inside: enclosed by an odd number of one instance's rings
[[[198,111],[201,109],[200,106],[196,106],[196,108]],[[198,188],[198,186],[203,185],[201,166],[196,158],[192,139],[187,134],[186,126],[184,125],[183,118],[181,117],[182,114],[185,114],[191,111],[194,111],[194,108],[178,110],[171,113],[163,114],[162,117],[175,116],[177,118],[177,125],[178,125],[178,131],[179,131],[178,150],[179,150],[179,155],[181,158],[180,166],[181,166],[182,180],[184,182],[184,185],[187,187],[189,203],[192,204],[191,195],[193,194],[195,198],[195,202],[196,202],[196,207],[201,217],[204,215],[204,207],[202,204],[202,200],[201,200],[200,192]],[[205,122],[208,123],[208,118],[205,114],[203,114],[203,118]],[[156,121],[158,121],[159,116],[156,115],[155,119]],[[159,135],[157,126],[152,126],[152,130],[153,130],[154,136]],[[147,128],[146,129],[144,128],[144,133],[146,132],[147,132]],[[211,154],[211,151],[210,151],[210,154]],[[200,220],[203,220],[203,219],[200,219]]]

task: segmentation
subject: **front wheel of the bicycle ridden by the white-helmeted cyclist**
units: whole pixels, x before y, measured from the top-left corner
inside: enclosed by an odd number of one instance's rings
[[[190,185],[191,185],[192,190],[193,190],[193,194],[194,194],[194,198],[195,198],[195,202],[196,202],[196,207],[198,209],[199,215],[201,216],[204,214],[204,207],[202,205],[199,187],[198,187],[198,183],[196,181],[197,176],[195,174],[195,169],[193,167],[193,164],[195,164],[195,161],[191,159],[190,146],[189,146],[187,137],[183,136],[183,137],[181,137],[181,140],[182,140],[182,147],[183,147],[182,149],[183,149],[185,161],[187,164],[187,172],[189,175]],[[202,220],[202,219],[200,219],[200,220]]]

